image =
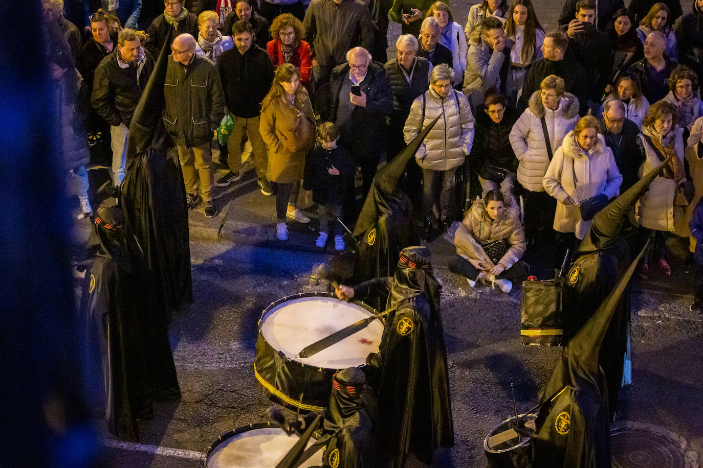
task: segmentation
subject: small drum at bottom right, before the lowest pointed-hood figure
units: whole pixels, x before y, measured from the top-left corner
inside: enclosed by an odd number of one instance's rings
[[[534,430],[536,414],[520,415],[520,424]],[[515,416],[501,422],[488,433],[484,440],[484,450],[489,468],[531,468],[534,457],[532,439],[527,436],[518,438],[515,429]],[[538,468],[538,467],[535,467]]]

